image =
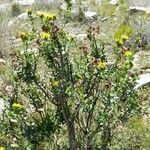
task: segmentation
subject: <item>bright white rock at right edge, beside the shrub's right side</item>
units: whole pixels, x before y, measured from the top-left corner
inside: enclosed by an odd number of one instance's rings
[[[147,84],[150,84],[150,73],[141,74],[139,76],[139,80],[137,81],[137,85],[135,86],[135,89],[143,87]]]

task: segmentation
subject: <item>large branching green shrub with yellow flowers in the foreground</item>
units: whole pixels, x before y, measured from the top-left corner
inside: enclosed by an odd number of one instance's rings
[[[140,114],[137,76],[130,71],[136,49],[126,51],[124,39],[114,46],[110,65],[99,28],[90,27],[88,43],[78,47],[56,25],[55,15],[38,11],[41,29],[35,28],[31,10],[28,15],[32,28],[20,35],[23,47],[13,63],[14,90],[3,96],[9,106],[0,125],[0,144],[109,149],[118,126]]]

